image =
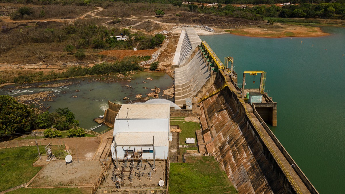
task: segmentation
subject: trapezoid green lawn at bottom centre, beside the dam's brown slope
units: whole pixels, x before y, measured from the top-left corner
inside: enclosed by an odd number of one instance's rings
[[[169,193],[238,193],[214,157],[170,163]]]

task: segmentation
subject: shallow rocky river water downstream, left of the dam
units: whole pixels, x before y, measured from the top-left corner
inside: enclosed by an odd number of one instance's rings
[[[146,79],[149,77],[152,79],[151,81]],[[108,81],[107,79],[103,80],[103,77],[75,78],[68,80],[73,83],[70,86],[53,88],[29,87],[13,89],[18,85],[9,85],[0,90],[0,95],[19,96],[42,91],[53,91],[52,94],[56,96],[53,98],[53,101],[41,101],[45,107],[51,106],[49,108],[50,112],[57,108],[69,107],[75,114],[76,119],[79,120],[79,127],[101,132],[108,127],[99,126],[93,119],[104,114],[104,110],[108,108],[108,100],[113,103],[123,104],[128,101],[122,100],[124,97],[128,97],[130,100],[136,100],[135,96],[141,94],[142,98],[144,98],[147,97],[146,94],[152,92],[151,89],[154,89],[155,86],[161,89],[159,98],[168,98],[170,96],[161,95],[163,94],[163,90],[173,85],[173,79],[169,75],[161,72],[139,72],[138,74],[132,75],[131,82],[128,82],[128,79],[116,77],[112,77],[111,80],[114,80],[114,78],[116,79],[115,82]],[[44,84],[59,83],[62,81],[50,81]],[[30,85],[42,85],[42,83]],[[168,99],[173,100],[173,98]],[[95,129],[96,127],[97,129]]]

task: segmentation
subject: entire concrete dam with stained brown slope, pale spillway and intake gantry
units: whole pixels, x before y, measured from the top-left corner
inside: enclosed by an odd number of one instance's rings
[[[266,124],[277,125],[277,103],[265,93],[266,72],[245,71],[237,83],[233,61],[226,57],[223,63],[193,28],[181,28],[172,64],[175,104],[187,107],[191,99],[200,117],[200,153],[216,158],[239,193],[317,194]],[[260,75],[259,88],[246,89],[246,75]]]

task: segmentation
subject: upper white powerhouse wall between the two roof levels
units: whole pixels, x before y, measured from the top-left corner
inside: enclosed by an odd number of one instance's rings
[[[114,133],[169,132],[170,119],[116,119]]]

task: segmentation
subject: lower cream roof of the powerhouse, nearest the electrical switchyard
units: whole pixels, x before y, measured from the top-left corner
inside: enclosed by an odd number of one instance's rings
[[[169,134],[168,132],[129,132],[117,133],[115,142],[118,145],[142,145],[153,144],[152,137],[155,137],[155,146],[168,146]]]

